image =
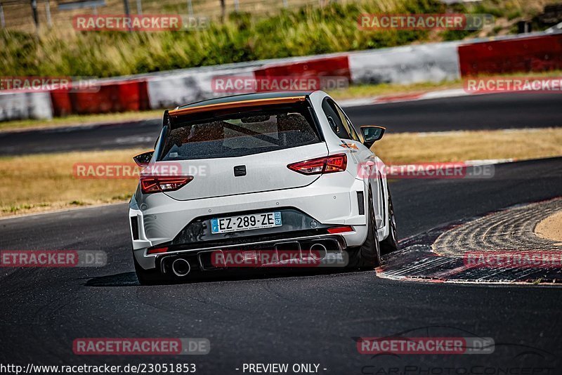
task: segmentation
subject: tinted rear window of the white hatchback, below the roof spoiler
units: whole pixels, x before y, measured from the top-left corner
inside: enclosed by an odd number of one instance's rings
[[[212,117],[209,117],[210,115]],[[240,157],[320,142],[308,106],[175,119],[159,160]]]

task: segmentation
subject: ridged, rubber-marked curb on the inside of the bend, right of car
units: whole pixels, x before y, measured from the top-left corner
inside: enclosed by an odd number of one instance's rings
[[[535,227],[561,207],[558,197],[432,228],[400,241],[401,249],[384,256],[377,276],[417,282],[559,285],[562,252],[556,240],[538,237]]]

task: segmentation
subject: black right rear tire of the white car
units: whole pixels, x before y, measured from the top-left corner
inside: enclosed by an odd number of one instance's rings
[[[377,223],[374,220],[372,192],[369,189],[369,218],[367,220],[367,238],[359,247],[348,249],[348,268],[372,270],[381,265],[381,246],[377,235]]]

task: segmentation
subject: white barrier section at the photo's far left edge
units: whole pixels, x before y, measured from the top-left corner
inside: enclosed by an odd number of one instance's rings
[[[52,119],[49,93],[1,93],[0,121],[15,119]]]

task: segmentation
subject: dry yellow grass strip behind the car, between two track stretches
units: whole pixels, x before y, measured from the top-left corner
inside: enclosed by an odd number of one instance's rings
[[[562,155],[562,129],[388,134],[375,149],[387,164],[554,157]],[[135,189],[135,179],[77,179],[72,166],[77,162],[130,163],[141,151],[0,157],[0,216],[124,202]]]

